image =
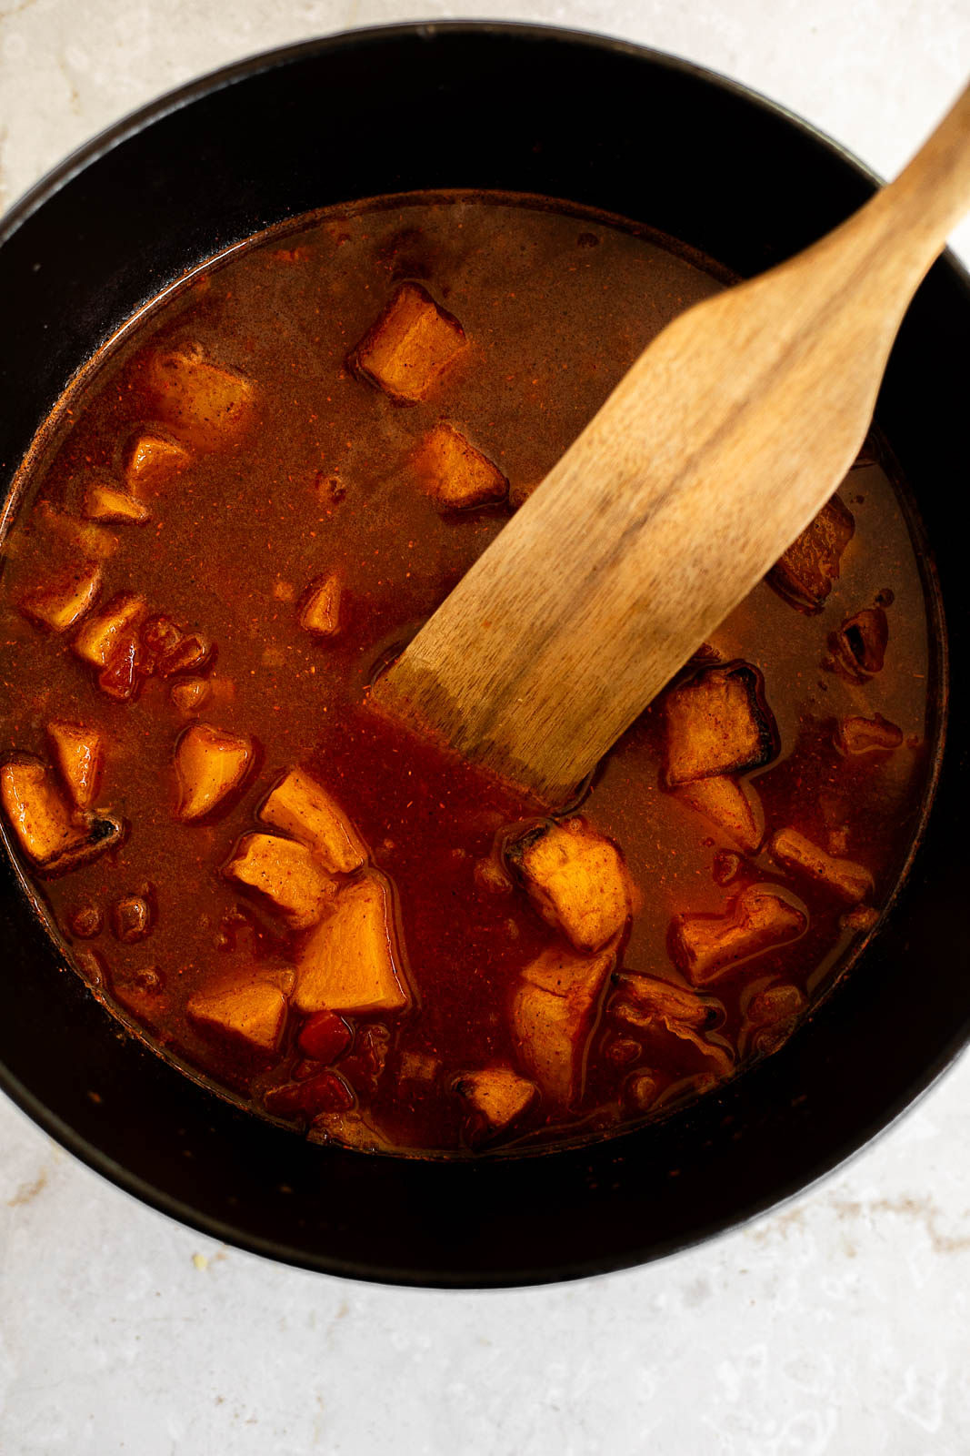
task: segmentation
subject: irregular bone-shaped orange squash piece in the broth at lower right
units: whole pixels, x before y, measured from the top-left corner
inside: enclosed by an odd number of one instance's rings
[[[726,914],[681,914],[670,926],[673,958],[694,986],[804,935],[809,917],[777,890],[750,885]]]

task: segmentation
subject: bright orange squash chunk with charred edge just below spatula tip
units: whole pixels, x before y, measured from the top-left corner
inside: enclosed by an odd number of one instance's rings
[[[599,951],[627,925],[633,884],[615,844],[582,818],[550,824],[509,849],[529,900],[577,951]]]

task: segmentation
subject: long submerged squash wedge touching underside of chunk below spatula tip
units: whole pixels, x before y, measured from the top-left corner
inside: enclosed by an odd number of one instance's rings
[[[553,1102],[567,1107],[582,1095],[586,1044],[614,962],[609,951],[590,960],[553,948],[522,971],[512,1032],[525,1070]]]

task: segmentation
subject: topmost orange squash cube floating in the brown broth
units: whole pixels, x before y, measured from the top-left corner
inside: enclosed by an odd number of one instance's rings
[[[348,364],[391,399],[414,405],[465,345],[458,320],[420,284],[404,282]]]

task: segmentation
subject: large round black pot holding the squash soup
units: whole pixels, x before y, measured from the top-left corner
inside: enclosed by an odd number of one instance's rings
[[[425,25],[257,57],[115,127],[7,215],[6,480],[74,371],[186,268],[310,208],[446,186],[593,204],[752,274],[841,221],[874,179],[740,87],[615,41]],[[214,1238],[406,1284],[528,1284],[657,1258],[858,1149],[970,1034],[955,505],[969,339],[969,280],[944,259],[907,314],[878,405],[950,609],[951,747],[937,807],[881,932],[781,1053],[660,1125],[582,1150],[449,1163],[311,1146],[122,1034],[63,968],[4,865],[4,1089],[99,1172]]]

